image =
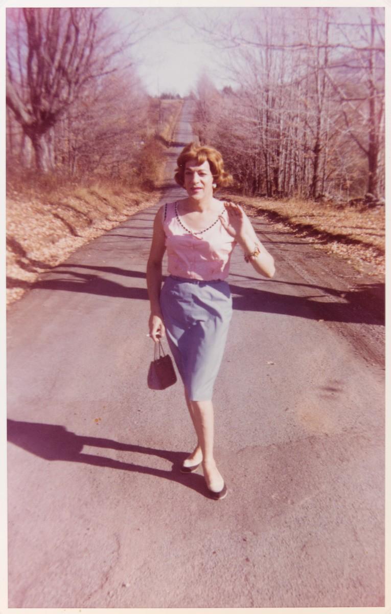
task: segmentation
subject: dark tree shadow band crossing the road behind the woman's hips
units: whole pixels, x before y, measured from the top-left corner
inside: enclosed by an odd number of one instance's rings
[[[69,266],[69,268],[64,268],[65,266]],[[72,266],[74,269],[70,268]],[[78,272],[75,270],[76,268],[92,269],[128,278],[145,278],[143,272],[125,270],[116,266],[88,266],[67,263],[67,265],[60,265],[50,271],[47,276],[35,282],[32,288],[148,300],[146,287],[123,286],[123,284],[105,279],[97,274]],[[281,284],[288,288],[299,287],[304,291],[306,289],[314,290],[310,295],[298,296],[271,292],[259,287],[241,286],[230,282],[230,289],[233,294],[233,309],[238,311],[279,313],[287,316],[324,320],[325,322],[384,324],[384,284],[360,284],[347,290],[336,290],[316,284],[297,284],[239,275],[232,277],[243,277],[246,280],[245,284],[253,281],[257,282],[259,286],[264,283],[272,284],[276,287],[276,290],[281,289]],[[320,301],[318,301],[319,299]]]

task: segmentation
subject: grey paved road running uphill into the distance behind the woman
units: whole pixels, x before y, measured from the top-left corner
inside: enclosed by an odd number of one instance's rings
[[[180,193],[167,184],[164,200]],[[357,300],[368,286],[257,219],[277,274],[233,255],[214,399],[229,495],[215,502],[200,473],[178,472],[194,444],[181,386],[146,388],[157,208],[10,308],[9,607],[384,605],[383,328]]]

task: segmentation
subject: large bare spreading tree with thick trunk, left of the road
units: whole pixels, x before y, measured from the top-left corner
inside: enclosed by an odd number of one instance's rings
[[[34,148],[36,167],[54,164],[53,128],[96,79],[116,70],[105,9],[9,9],[7,106]]]

